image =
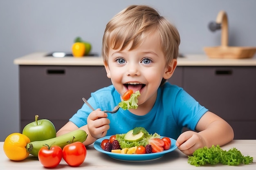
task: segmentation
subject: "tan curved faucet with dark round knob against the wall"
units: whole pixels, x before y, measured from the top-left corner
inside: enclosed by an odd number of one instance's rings
[[[228,19],[225,11],[220,11],[217,15],[216,22],[209,23],[209,29],[216,31],[221,29],[221,46],[227,47],[229,44],[229,31],[228,31]]]

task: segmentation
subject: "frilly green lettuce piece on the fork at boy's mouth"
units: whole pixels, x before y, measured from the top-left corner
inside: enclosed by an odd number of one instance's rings
[[[123,100],[121,102],[119,102],[118,106],[120,106],[120,108],[126,110],[126,109],[137,109],[138,108],[138,99],[137,97],[140,95],[139,91],[136,91],[135,93],[132,93],[130,96],[130,99],[128,100]]]

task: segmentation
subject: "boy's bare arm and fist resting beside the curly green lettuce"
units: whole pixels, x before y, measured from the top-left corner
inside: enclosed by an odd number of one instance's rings
[[[198,132],[186,131],[177,139],[176,145],[186,155],[191,155],[198,148],[222,146],[234,139],[231,126],[209,111],[201,117],[195,129]]]

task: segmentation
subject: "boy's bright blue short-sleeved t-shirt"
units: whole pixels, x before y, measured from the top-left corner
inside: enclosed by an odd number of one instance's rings
[[[114,86],[101,88],[91,94],[88,102],[93,108],[112,110],[121,98]],[[129,110],[119,109],[115,114],[108,113],[110,129],[107,136],[126,133],[135,127],[144,127],[150,134],[157,132],[161,136],[177,139],[183,127],[195,130],[199,119],[208,110],[201,106],[183,88],[166,82],[157,91],[153,108],[146,115],[138,116]],[[87,124],[87,117],[92,110],[84,104],[70,121],[81,127]]]

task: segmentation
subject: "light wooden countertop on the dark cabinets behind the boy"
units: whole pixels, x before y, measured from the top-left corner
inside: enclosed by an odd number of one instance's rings
[[[101,57],[45,57],[48,53],[31,53],[14,60],[17,65],[102,66]],[[184,55],[178,66],[256,66],[256,56],[249,59],[213,59],[206,55]]]

